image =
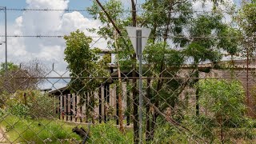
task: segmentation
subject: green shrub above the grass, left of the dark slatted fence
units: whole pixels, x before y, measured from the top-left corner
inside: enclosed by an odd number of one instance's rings
[[[5,110],[20,118],[54,118],[57,101],[38,90],[18,90],[6,95]]]

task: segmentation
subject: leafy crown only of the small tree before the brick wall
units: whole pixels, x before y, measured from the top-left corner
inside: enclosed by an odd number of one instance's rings
[[[242,118],[246,106],[245,94],[240,82],[234,80],[202,80],[199,82],[200,104],[215,117],[226,121]]]

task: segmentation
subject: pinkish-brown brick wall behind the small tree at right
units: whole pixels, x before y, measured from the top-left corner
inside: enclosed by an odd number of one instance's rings
[[[184,72],[185,73],[185,72]],[[230,70],[211,70],[210,73],[200,73],[200,79],[207,79],[207,78],[219,78],[219,79],[226,79],[226,80],[231,80],[231,79],[238,79],[244,88],[245,94],[246,94],[246,99],[245,103],[247,106],[247,114],[252,117],[256,118],[256,101],[254,96],[252,95],[252,90],[256,86],[256,78],[254,75],[254,71],[248,70],[248,78],[247,78],[247,70],[246,69],[237,69],[234,70],[234,72],[230,72]],[[186,89],[182,92],[180,95],[180,100],[185,101],[186,95],[190,95],[189,98],[189,110],[187,114],[195,114],[195,106],[196,106],[196,101],[195,101],[195,89],[186,87]],[[208,111],[204,110],[202,106],[200,107],[200,113],[201,114],[207,114],[211,115]]]

